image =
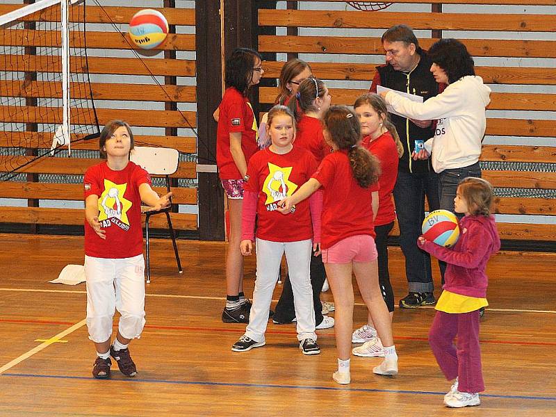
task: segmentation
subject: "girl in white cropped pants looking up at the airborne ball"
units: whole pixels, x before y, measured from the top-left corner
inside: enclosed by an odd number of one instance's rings
[[[126,377],[137,373],[128,345],[145,326],[141,201],[160,210],[172,195],[158,197],[148,172],[129,161],[131,149],[129,124],[108,122],[99,139],[106,161],[89,167],[83,178],[87,329],[97,350],[92,376],[101,379],[110,377],[110,357]],[[121,316],[111,344],[116,309]]]

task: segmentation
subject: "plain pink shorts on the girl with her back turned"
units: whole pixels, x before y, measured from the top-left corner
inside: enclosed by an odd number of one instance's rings
[[[324,263],[372,262],[377,257],[377,245],[370,235],[349,236],[322,250]]]

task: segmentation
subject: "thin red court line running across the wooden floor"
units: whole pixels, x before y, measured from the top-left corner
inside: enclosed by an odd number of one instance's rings
[[[0,318],[0,323],[27,323],[27,324],[40,324],[40,325],[74,325],[74,322],[56,322],[47,320],[12,320]],[[117,324],[114,324],[117,327]],[[236,328],[221,328],[221,327],[192,327],[192,326],[163,326],[163,325],[145,325],[145,329],[158,329],[158,330],[186,330],[188,332],[222,332],[222,333],[236,333],[243,334],[245,329],[243,326],[239,329]],[[267,330],[266,334],[284,334],[284,335],[297,335],[297,332],[287,332],[280,330]],[[319,334],[318,337],[329,338],[334,337],[334,334]],[[428,341],[426,337],[415,336],[394,336],[395,339],[404,341]],[[491,343],[494,345],[525,345],[525,346],[556,346],[556,342],[520,342],[520,341],[497,341],[497,340],[480,340],[481,343]]]

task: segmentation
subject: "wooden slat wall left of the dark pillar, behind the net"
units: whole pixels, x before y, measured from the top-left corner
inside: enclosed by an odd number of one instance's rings
[[[165,2],[171,3],[171,2]],[[11,10],[21,6],[0,5],[0,15],[8,13]],[[134,7],[98,7],[87,6],[85,22],[88,24],[106,24],[101,31],[88,31],[87,47],[88,49],[104,49],[112,51],[125,51],[130,49],[120,33],[110,26],[112,22],[115,24],[129,23],[131,17],[141,8]],[[167,18],[170,25],[177,26],[195,26],[195,9],[180,9],[173,7],[158,8]],[[70,8],[70,21],[83,21],[83,6],[72,6]],[[58,14],[59,15],[59,14]],[[47,13],[35,13],[29,15],[25,19],[33,22],[44,20]],[[129,35],[125,34],[127,40]],[[72,33],[71,43],[77,42],[75,37],[82,36],[79,33]],[[54,46],[59,41],[51,40],[49,36],[41,36],[30,40],[30,37],[23,35],[23,31],[0,29],[0,45],[17,45],[24,47],[46,47]],[[92,83],[92,95],[95,100],[119,100],[120,102],[129,101],[152,101],[163,103],[164,110],[130,110],[126,108],[102,108],[103,106],[95,101],[97,106],[97,116],[100,126],[103,126],[108,120],[122,119],[126,120],[133,127],[159,127],[163,128],[165,134],[160,136],[136,135],[136,143],[143,146],[163,146],[174,147],[180,152],[195,154],[197,152],[197,140],[194,137],[177,136],[177,129],[196,127],[196,113],[194,111],[177,111],[178,103],[195,103],[196,90],[195,85],[176,85],[176,77],[195,77],[196,65],[195,60],[176,59],[176,51],[195,51],[195,34],[176,34],[170,33],[165,42],[158,47],[165,51],[162,59],[145,59],[142,63],[138,58],[108,58],[99,56],[90,56],[88,59],[88,68],[79,67],[78,60],[73,59],[72,71],[84,72],[90,74],[108,74],[108,75],[125,75],[125,76],[164,76],[165,83],[162,86],[156,85],[154,81],[147,83],[145,81],[126,81],[121,83],[117,81],[108,81],[104,83]],[[51,62],[49,58],[44,56],[26,55],[21,58],[25,60],[26,69],[28,71],[44,71],[47,65],[59,66],[59,61]],[[0,60],[0,71],[10,71],[13,68],[6,67],[7,60]],[[108,77],[106,77],[108,79]],[[142,78],[145,80],[145,77]],[[72,88],[74,86],[72,85]],[[61,97],[61,84],[44,85],[41,81],[21,82],[0,80],[0,90],[2,92],[15,92],[15,96],[25,97],[26,99],[42,98],[44,91],[51,91],[53,97]],[[76,97],[79,96],[79,90],[76,90]],[[2,94],[4,95],[4,93]],[[26,124],[44,123],[44,116],[47,115],[47,122],[55,123],[61,119],[59,116],[60,109],[47,114],[44,108],[35,107],[28,108],[25,112],[14,111],[9,106],[0,106],[0,122],[22,122]],[[78,121],[79,122],[79,121]],[[8,124],[4,124],[7,126]],[[3,130],[3,129],[2,129]],[[22,145],[29,135],[33,135],[36,139],[37,148],[49,148],[52,135],[51,133],[15,133],[1,131],[0,147],[17,147]],[[18,143],[18,140],[21,142]],[[72,149],[98,149],[98,140],[90,140],[88,142],[80,142],[75,144]],[[29,151],[30,149],[27,149]],[[31,149],[33,151],[33,149]],[[10,170],[6,156],[0,156],[0,172]],[[32,156],[20,156],[19,163],[28,161]],[[10,161],[13,166],[14,161]],[[33,163],[25,167],[20,172],[28,174],[83,174],[85,170],[95,163],[99,163],[98,159],[89,158],[42,158],[37,163]],[[178,171],[172,176],[175,179],[196,179],[196,163],[180,162]],[[28,176],[33,178],[33,176]],[[36,176],[35,176],[36,178]],[[177,181],[174,181],[174,204],[197,204],[197,189],[177,187]],[[158,190],[159,192],[162,189]],[[44,183],[44,182],[0,182],[0,198],[17,198],[17,199],[54,199],[54,200],[83,200],[83,189],[80,184],[71,183]],[[37,205],[37,204],[31,204]],[[155,216],[152,218],[153,225],[156,227],[165,227],[165,216]],[[0,210],[0,223],[19,223],[19,224],[62,224],[62,225],[80,225],[83,224],[83,210],[77,208],[42,208],[38,206],[32,207],[2,207]],[[172,213],[172,223],[174,228],[181,230],[197,230],[197,215],[188,213]]]

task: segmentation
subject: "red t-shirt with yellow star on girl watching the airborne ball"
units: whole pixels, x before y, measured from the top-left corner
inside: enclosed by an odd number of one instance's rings
[[[83,184],[85,199],[99,197],[99,222],[106,231],[101,239],[85,220],[85,255],[96,258],[131,258],[143,252],[139,186],[151,184],[147,171],[129,162],[113,171],[105,162],[89,167]]]

